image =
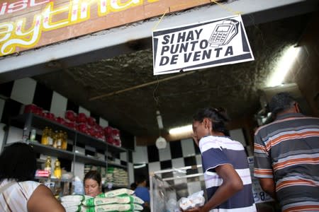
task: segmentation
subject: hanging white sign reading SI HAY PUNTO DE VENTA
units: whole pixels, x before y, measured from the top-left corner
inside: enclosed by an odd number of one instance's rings
[[[241,16],[153,32],[154,75],[254,60]]]

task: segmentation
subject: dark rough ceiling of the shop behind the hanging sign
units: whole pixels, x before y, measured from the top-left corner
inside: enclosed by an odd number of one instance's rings
[[[131,43],[139,49],[133,53],[33,78],[135,136],[158,136],[156,110],[164,133],[191,124],[200,107],[225,107],[231,119],[240,119],[259,110],[257,91],[267,86],[284,49],[298,42],[308,18],[246,27],[255,60],[241,64],[153,76],[150,37]]]

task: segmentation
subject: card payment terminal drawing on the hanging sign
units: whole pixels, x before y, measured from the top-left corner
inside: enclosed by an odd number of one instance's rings
[[[227,45],[230,40],[238,33],[239,22],[234,19],[224,20],[223,23],[216,25],[213,30],[209,44],[211,47]]]

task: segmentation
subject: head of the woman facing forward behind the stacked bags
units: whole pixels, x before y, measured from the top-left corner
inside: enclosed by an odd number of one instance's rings
[[[84,176],[85,195],[95,197],[101,194],[101,174],[98,171],[91,170]]]

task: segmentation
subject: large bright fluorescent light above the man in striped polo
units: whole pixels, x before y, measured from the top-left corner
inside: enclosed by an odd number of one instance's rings
[[[286,48],[286,51],[282,55],[281,59],[279,59],[274,68],[272,76],[270,76],[269,81],[267,82],[267,87],[279,86],[281,83],[283,83],[286,74],[291,69],[292,64],[295,62],[299,51],[300,47],[291,46]]]

